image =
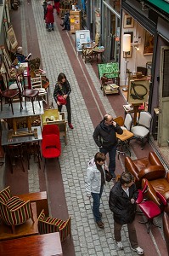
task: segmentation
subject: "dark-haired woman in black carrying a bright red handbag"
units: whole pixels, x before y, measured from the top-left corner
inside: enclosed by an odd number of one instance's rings
[[[58,110],[61,112],[62,106],[65,105],[67,109],[68,125],[73,129],[71,124],[71,108],[70,108],[70,83],[66,79],[65,73],[59,73],[58,82],[54,88],[54,100],[58,105]]]

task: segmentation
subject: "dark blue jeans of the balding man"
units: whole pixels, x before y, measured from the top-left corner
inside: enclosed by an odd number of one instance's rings
[[[112,177],[115,177],[115,154],[116,154],[116,147],[112,146],[110,149],[108,148],[99,148],[99,151],[101,153],[107,154],[109,152],[109,157],[110,157],[110,165],[109,165],[109,171],[112,175]]]

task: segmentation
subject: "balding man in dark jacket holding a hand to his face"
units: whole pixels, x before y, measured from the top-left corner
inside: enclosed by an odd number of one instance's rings
[[[115,154],[117,146],[117,138],[115,132],[122,134],[121,126],[117,125],[109,113],[104,115],[104,119],[95,128],[93,139],[99,147],[101,153],[107,154],[109,152],[110,165],[109,171],[113,178],[115,178]]]

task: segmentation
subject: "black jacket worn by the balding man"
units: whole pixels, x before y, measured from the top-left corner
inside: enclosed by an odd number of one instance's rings
[[[104,120],[102,120],[93,132],[93,139],[99,148],[101,146],[103,148],[111,148],[117,143],[115,132],[122,134],[121,126],[117,124],[116,127],[114,125],[108,126],[105,125]]]

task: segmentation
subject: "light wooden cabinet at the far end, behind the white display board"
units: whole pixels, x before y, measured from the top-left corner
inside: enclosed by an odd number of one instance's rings
[[[70,32],[75,33],[76,30],[81,30],[82,13],[81,10],[70,10]]]

